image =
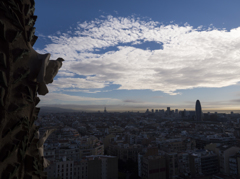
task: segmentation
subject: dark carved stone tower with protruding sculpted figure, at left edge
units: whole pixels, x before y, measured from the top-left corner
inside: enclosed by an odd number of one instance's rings
[[[63,59],[49,60],[32,46],[35,33],[34,0],[0,1],[0,178],[45,179],[43,143],[34,124],[39,95],[48,93]]]

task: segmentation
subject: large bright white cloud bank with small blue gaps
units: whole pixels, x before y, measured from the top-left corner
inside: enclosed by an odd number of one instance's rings
[[[179,89],[220,88],[240,81],[240,27],[226,31],[108,16],[48,37],[52,43],[38,51],[63,57],[63,71],[86,77],[65,78],[61,72],[53,84],[62,90],[104,88],[111,82],[119,89],[176,95]],[[162,44],[163,49],[132,46],[144,42]],[[109,47],[116,50],[96,53]]]

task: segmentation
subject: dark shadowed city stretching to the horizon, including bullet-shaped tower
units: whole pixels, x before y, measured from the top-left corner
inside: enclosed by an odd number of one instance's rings
[[[38,117],[49,179],[239,178],[240,114],[146,112],[45,113]],[[41,138],[41,137],[40,137]]]

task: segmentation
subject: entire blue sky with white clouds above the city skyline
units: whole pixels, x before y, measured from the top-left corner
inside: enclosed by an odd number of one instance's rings
[[[34,49],[62,57],[39,106],[240,110],[240,1],[38,0]]]

